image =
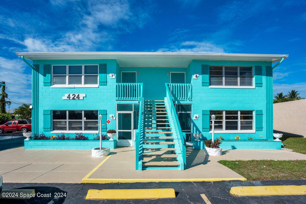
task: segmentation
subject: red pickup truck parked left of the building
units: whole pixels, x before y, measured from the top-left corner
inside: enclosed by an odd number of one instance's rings
[[[0,134],[3,132],[21,131],[22,133],[32,130],[32,124],[27,121],[8,121],[0,125]]]

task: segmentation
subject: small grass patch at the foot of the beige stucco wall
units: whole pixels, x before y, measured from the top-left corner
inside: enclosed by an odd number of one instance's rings
[[[298,153],[306,154],[306,138],[283,135],[280,140],[282,140],[282,143],[284,144],[283,147],[292,149]]]

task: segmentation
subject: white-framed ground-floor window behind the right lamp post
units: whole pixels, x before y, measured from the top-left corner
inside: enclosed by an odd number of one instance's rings
[[[209,128],[212,130],[211,116],[215,115],[216,131],[252,131],[254,130],[253,110],[211,110]]]

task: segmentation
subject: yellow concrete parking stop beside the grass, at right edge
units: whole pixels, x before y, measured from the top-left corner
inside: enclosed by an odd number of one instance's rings
[[[306,195],[306,185],[302,186],[239,186],[231,187],[230,193],[238,196],[259,195]]]

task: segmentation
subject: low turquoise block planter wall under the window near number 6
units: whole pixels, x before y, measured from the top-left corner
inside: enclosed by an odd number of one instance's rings
[[[204,149],[205,145],[200,141],[192,140],[192,147]],[[274,140],[222,140],[222,149],[280,149],[281,141]]]

